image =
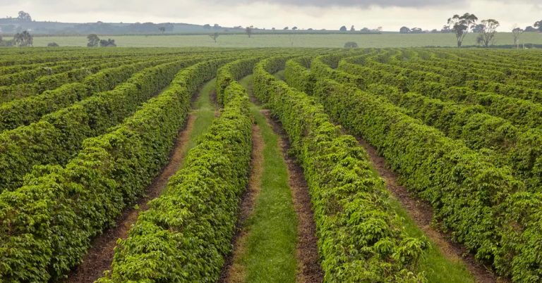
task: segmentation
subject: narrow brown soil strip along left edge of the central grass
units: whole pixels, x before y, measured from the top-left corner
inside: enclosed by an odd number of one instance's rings
[[[263,142],[260,127],[252,126],[252,156],[251,156],[251,177],[248,180],[248,187],[241,197],[239,206],[239,218],[236,225],[236,234],[233,240],[234,249],[230,256],[226,258],[226,263],[222,269],[222,275],[219,282],[241,283],[245,282],[245,269],[240,259],[246,251],[246,239],[248,231],[243,229],[246,220],[251,217],[256,199],[260,194],[260,180],[263,173]]]

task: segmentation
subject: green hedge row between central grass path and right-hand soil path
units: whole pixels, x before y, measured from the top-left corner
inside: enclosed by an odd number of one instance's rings
[[[325,282],[424,281],[414,270],[427,242],[407,237],[356,139],[342,134],[317,101],[270,75],[280,63],[256,65],[255,94],[282,122],[303,167]]]

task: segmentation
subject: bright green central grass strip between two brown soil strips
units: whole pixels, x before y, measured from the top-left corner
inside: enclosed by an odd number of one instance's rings
[[[241,80],[251,89],[252,76]],[[243,229],[246,246],[239,263],[246,282],[295,282],[297,222],[287,165],[279,149],[279,138],[267,124],[260,108],[251,104],[251,113],[263,137],[263,163],[260,193],[253,215]]]

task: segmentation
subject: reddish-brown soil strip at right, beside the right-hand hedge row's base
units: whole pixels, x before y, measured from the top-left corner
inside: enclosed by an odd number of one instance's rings
[[[474,256],[471,253],[468,253],[462,244],[452,242],[450,237],[433,228],[431,226],[433,208],[431,208],[430,204],[426,201],[421,201],[407,191],[405,187],[400,186],[397,182],[397,174],[386,167],[385,159],[378,155],[376,149],[365,140],[359,137],[356,138],[358,139],[359,144],[366,149],[369,160],[373,163],[373,167],[378,171],[378,175],[385,180],[387,189],[392,192],[397,200],[399,200],[423,233],[437,244],[440,252],[444,256],[451,259],[459,258],[462,260],[477,282],[506,282],[495,276],[490,268],[486,268],[486,266],[476,261]]]

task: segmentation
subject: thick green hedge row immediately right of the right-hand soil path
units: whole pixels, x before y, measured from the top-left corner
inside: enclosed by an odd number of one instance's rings
[[[401,181],[432,203],[452,237],[517,282],[542,278],[542,194],[507,168],[423,125],[373,94],[318,77],[315,96],[344,127],[376,146]]]

